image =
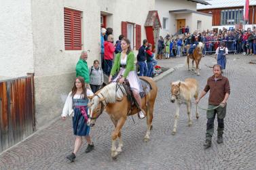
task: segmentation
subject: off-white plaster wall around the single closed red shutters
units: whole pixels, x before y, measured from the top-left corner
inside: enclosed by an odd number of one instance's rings
[[[100,7],[89,0],[34,0],[33,49],[35,56],[35,103],[40,127],[60,115],[75,79],[81,50],[65,50],[64,7],[82,12],[82,49],[88,66],[100,58]]]

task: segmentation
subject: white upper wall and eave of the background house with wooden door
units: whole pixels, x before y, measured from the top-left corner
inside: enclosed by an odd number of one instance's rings
[[[175,14],[170,14],[169,11],[179,9],[190,9],[196,11],[196,3],[187,0],[156,0],[155,9],[158,10],[161,24],[163,18],[169,18],[168,30],[160,30],[160,35],[165,36],[166,33],[174,34],[177,32],[176,16]]]

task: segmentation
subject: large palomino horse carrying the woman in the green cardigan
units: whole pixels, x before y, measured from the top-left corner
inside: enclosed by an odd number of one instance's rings
[[[150,83],[152,89],[149,93],[142,98],[141,104],[143,110],[147,113],[147,133],[144,137],[144,141],[149,141],[149,135],[151,130],[151,123],[153,119],[153,107],[158,93],[158,87],[156,83],[149,77],[141,77]],[[116,158],[117,154],[122,152],[123,142],[121,139],[121,129],[126,122],[127,116],[136,114],[139,109],[136,106],[131,106],[130,101],[126,95],[126,91],[120,83],[110,83],[100,91],[97,91],[91,98],[91,102],[88,104],[90,117],[88,119],[88,125],[93,126],[96,119],[103,110],[109,114],[111,121],[115,125],[115,130],[112,133],[112,147],[111,156]],[[115,141],[119,138],[118,147],[115,147]]]

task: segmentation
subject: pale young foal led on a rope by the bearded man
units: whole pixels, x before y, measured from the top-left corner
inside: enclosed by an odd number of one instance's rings
[[[185,79],[183,81],[175,81],[170,84],[172,96],[170,102],[175,102],[176,114],[175,114],[175,125],[172,130],[172,135],[175,135],[177,131],[177,121],[179,119],[179,110],[181,104],[185,103],[187,105],[187,116],[189,118],[188,126],[192,125],[190,111],[191,111],[191,99],[194,97],[198,98],[199,85],[196,79]],[[199,118],[198,106],[196,105],[196,119]]]

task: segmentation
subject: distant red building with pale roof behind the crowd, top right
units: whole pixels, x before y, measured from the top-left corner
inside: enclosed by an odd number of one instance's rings
[[[197,6],[198,12],[213,14],[213,29],[235,28],[236,25],[242,24],[243,28],[252,28],[256,24],[256,1],[251,0],[249,6],[249,20],[244,24],[244,1],[232,0],[213,0],[211,5]]]

